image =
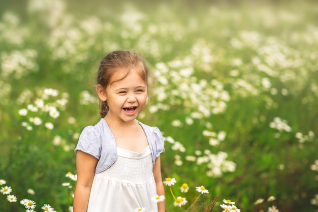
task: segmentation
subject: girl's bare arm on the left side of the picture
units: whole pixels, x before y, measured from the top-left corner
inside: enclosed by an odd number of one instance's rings
[[[80,150],[76,153],[77,182],[74,194],[74,212],[86,212],[91,185],[98,159]]]

